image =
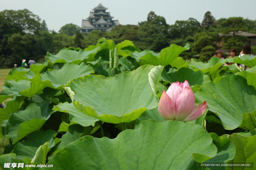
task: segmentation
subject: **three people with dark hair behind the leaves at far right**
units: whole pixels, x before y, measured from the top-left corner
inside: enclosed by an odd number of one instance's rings
[[[227,56],[227,58],[229,57],[235,57],[236,56],[236,49],[232,48],[230,51],[229,51],[229,56]],[[254,55],[252,54],[251,52],[251,46],[250,45],[244,45],[243,46],[243,50],[240,52],[239,54],[239,57],[243,56],[243,55],[250,55],[250,57],[253,57]],[[216,56],[218,57],[219,59],[224,59],[222,57],[222,52],[220,50],[216,51],[215,53],[212,54],[212,56]]]

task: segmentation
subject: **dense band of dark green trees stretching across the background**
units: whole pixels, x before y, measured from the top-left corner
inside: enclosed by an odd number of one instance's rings
[[[148,14],[147,20],[138,25],[119,25],[110,32],[92,31],[88,36],[78,32],[79,26],[67,24],[59,33],[50,31],[46,22],[41,22],[39,16],[27,9],[4,10],[0,12],[0,67],[20,66],[22,59],[35,58],[37,62],[45,59],[49,51],[58,53],[63,47],[86,48],[96,44],[101,37],[113,39],[115,43],[131,40],[141,50],[150,49],[159,52],[175,43],[184,46],[190,43],[191,49],[182,53],[184,59],[190,59],[195,54],[200,54],[201,61],[209,59],[210,54],[217,50],[214,42],[219,42],[218,33],[233,32],[234,37],[223,38],[223,48],[242,49],[247,37],[238,36],[237,31],[256,33],[256,20],[243,19],[242,17],[221,18],[215,20],[210,12],[204,16],[202,23],[194,18],[176,21],[168,25],[162,16],[154,12]]]

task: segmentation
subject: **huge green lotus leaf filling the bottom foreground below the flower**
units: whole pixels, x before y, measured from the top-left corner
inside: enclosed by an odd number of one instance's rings
[[[216,153],[211,137],[199,125],[147,120],[138,130],[125,130],[115,139],[84,136],[68,144],[48,164],[56,170],[200,169],[196,161],[204,162]]]

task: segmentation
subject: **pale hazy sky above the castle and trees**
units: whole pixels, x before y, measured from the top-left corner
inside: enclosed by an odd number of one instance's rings
[[[82,18],[86,19],[100,2],[121,25],[137,25],[150,11],[163,16],[169,25],[190,17],[202,22],[207,11],[216,19],[256,19],[256,0],[0,0],[0,11],[26,8],[45,20],[49,30],[58,32],[69,23],[81,27]]]

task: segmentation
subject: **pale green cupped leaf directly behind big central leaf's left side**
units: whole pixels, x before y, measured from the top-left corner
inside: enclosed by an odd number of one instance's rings
[[[74,63],[66,63],[61,69],[46,71],[46,73],[40,74],[41,77],[35,76],[32,81],[57,90],[64,90],[63,86],[73,78],[81,77],[91,73],[94,73],[94,71],[90,65],[86,65],[85,63],[81,63],[80,65]]]

